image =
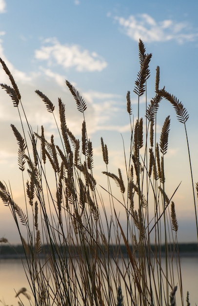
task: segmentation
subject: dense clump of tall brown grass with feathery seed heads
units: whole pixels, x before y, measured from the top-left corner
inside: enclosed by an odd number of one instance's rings
[[[46,139],[44,126],[33,132],[27,119],[26,124],[21,120],[22,115],[26,118],[26,112],[19,88],[0,59],[11,86],[0,85],[11,97],[20,116],[21,127],[11,125],[11,128],[19,147],[18,165],[25,208],[15,202],[12,191],[2,181],[0,197],[13,215],[24,248],[24,269],[34,297],[32,300],[27,295],[30,305],[175,306],[176,299],[178,304],[184,305],[178,220],[173,201],[178,186],[168,195],[164,173],[170,116],[164,120],[160,137],[157,120],[160,104],[166,99],[184,125],[189,149],[188,113],[175,96],[164,88],[159,89],[159,67],[154,98],[147,101],[151,58],[152,54],[146,54],[139,40],[140,68],[134,87],[134,94],[138,96],[137,112],[132,110],[130,92],[126,95],[131,126],[129,150],[123,151],[126,171],[122,173],[119,168],[115,173],[109,172],[108,146],[101,138],[102,175],[106,179],[103,186],[98,185],[94,177],[93,147],[86,127],[87,105],[79,91],[69,81],[65,82],[82,114],[81,139],[67,126],[61,99],[58,100],[59,118],[56,118],[56,106],[36,90],[55,120],[60,138],[56,144],[54,135]],[[146,104],[143,115],[139,108],[141,96],[145,96]],[[195,201],[190,151],[189,161]],[[121,199],[116,196],[115,188],[119,189]],[[198,183],[196,188],[198,191]],[[111,208],[110,216],[106,198]],[[124,227],[120,211],[125,216]],[[195,216],[197,222],[196,204]],[[21,234],[24,227],[25,237]],[[154,237],[154,248],[151,237]],[[173,261],[177,265],[176,275]],[[17,295],[20,293],[26,293],[25,288]],[[187,305],[190,305],[189,293]]]

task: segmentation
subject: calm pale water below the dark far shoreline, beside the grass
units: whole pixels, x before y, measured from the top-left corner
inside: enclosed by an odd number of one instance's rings
[[[198,258],[183,257],[181,258],[182,283],[184,292],[184,305],[186,305],[186,292],[190,293],[191,306],[198,305]],[[15,298],[16,292],[20,288],[26,287],[28,294],[31,290],[28,285],[23,265],[20,260],[0,260],[0,300],[4,305],[17,306],[18,299]],[[179,292],[178,292],[179,294]],[[116,294],[115,294],[116,295]],[[27,305],[27,299],[20,295],[24,305]],[[2,305],[2,304],[1,304]]]

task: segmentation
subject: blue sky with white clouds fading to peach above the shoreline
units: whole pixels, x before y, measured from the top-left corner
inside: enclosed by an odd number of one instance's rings
[[[44,125],[46,137],[55,132],[35,90],[56,106],[58,97],[66,106],[66,122],[80,137],[82,117],[66,88],[69,80],[87,103],[86,122],[93,142],[95,171],[100,182],[102,164],[100,137],[109,150],[110,172],[124,171],[123,143],[130,140],[126,93],[131,92],[132,111],[137,117],[133,93],[139,71],[138,43],[152,53],[148,101],[155,95],[156,67],[160,88],[177,96],[188,113],[187,132],[194,182],[198,181],[198,2],[196,0],[0,0],[0,57],[13,74],[34,131]],[[0,68],[0,83],[9,85]],[[145,118],[145,106],[140,110]],[[158,114],[158,131],[170,115],[171,132],[167,153],[167,190],[174,197],[178,217],[178,240],[197,241],[195,209],[184,127],[168,102]],[[20,128],[11,99],[0,90],[0,180],[10,183],[16,201],[21,200],[17,143],[10,124]],[[55,135],[56,136],[56,135]],[[102,166],[101,166],[102,165]],[[8,183],[8,184],[9,184]],[[0,237],[18,243],[16,227],[8,207],[0,203]]]

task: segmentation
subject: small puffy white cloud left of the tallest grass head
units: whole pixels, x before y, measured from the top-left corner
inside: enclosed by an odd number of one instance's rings
[[[56,38],[47,39],[35,58],[47,61],[48,66],[75,67],[77,71],[101,71],[107,63],[96,52],[83,50],[79,45],[60,44]]]

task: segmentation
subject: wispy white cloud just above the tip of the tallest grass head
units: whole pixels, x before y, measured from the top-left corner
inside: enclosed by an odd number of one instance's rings
[[[193,30],[187,22],[175,22],[171,19],[157,22],[148,14],[139,14],[123,17],[114,17],[119,22],[124,34],[135,41],[139,38],[143,42],[166,42],[175,40],[179,44],[198,39],[198,31]]]

